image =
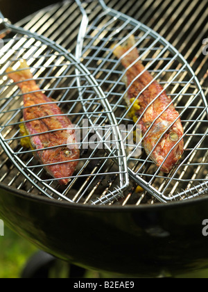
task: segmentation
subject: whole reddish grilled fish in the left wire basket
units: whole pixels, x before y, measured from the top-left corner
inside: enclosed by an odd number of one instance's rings
[[[21,61],[18,70],[9,67],[7,74],[24,94],[24,127],[30,135],[31,148],[35,149],[35,159],[60,184],[68,184],[80,158],[71,121],[40,90],[25,60]],[[21,133],[24,127],[21,125]]]

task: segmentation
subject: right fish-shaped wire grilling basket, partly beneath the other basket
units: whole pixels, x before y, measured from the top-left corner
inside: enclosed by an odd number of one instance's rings
[[[128,88],[123,77],[127,70],[123,69],[121,60],[114,57],[112,45],[123,44],[130,35],[135,35],[139,60],[153,79],[159,81],[168,96],[171,96],[180,113],[184,129],[184,154],[168,175],[155,166],[150,154],[145,154],[144,147],[141,146],[144,137],[140,143],[130,145],[129,149],[128,136],[132,129],[136,129],[139,120],[134,122],[130,131],[123,131],[130,177],[160,202],[205,195],[208,190],[207,100],[187,61],[155,31],[105,6],[103,0],[76,0],[76,3],[83,15],[76,54],[81,56],[81,60],[105,92],[119,127],[121,124],[132,124],[129,113],[133,105],[126,110],[125,95]],[[92,10],[93,17],[89,13]],[[141,155],[133,155],[138,148],[142,148]]]

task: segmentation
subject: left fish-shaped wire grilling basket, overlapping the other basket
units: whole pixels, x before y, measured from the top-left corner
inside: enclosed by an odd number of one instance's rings
[[[0,17],[5,26],[1,31],[4,38],[0,51],[0,143],[4,151],[19,172],[42,195],[51,199],[84,204],[116,200],[128,186],[128,174],[121,133],[103,91],[89,71],[67,50],[41,35],[11,25],[3,15]],[[15,74],[26,72],[26,65],[19,67],[21,60],[26,60],[33,73],[33,81],[39,86],[35,90],[28,87],[24,93],[18,87],[21,82],[14,82],[8,77],[9,67]],[[26,86],[29,81],[31,79],[22,84]],[[33,106],[26,106],[26,97],[30,99],[34,94],[37,97],[44,94],[50,102],[37,101]],[[21,120],[23,111],[34,111],[34,108],[35,112],[43,111],[44,106],[52,108],[56,104],[62,110],[61,114],[49,115],[46,111],[31,120]],[[44,131],[23,133],[22,127],[33,121],[46,124],[46,119],[50,118],[53,122],[55,117],[69,118],[69,129],[49,127],[45,134],[59,137],[56,134],[62,131],[75,131],[76,140],[69,139],[67,144],[57,140],[53,145],[35,149],[23,145],[26,138],[42,137]],[[69,157],[68,163],[72,161],[77,165],[70,177],[52,177],[45,170],[52,165],[62,168],[67,159],[60,163],[53,162],[53,157],[49,157],[48,163],[35,159],[37,153],[43,156],[48,150],[51,150],[51,156],[57,149],[63,149],[64,155],[69,155],[73,147],[79,148],[80,156],[72,160]],[[67,186],[61,186],[60,179],[67,179]]]

